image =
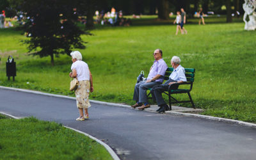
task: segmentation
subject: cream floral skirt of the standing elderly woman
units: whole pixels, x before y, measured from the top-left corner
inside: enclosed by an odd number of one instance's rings
[[[75,91],[77,108],[89,108],[90,81],[79,81]]]

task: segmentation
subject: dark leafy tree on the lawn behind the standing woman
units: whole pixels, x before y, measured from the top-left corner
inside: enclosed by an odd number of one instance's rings
[[[25,24],[21,27],[29,37],[24,40],[31,54],[40,57],[69,54],[71,49],[84,49],[82,34],[90,33],[77,27],[76,3],[68,0],[12,0],[11,4],[24,12]]]

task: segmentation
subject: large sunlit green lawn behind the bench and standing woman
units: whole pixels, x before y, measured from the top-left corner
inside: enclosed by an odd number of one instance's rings
[[[196,108],[206,109],[203,114],[256,122],[255,31],[244,31],[241,19],[226,24],[223,17],[208,17],[205,26],[190,19],[185,25],[188,35],[175,36],[172,20],[140,20],[130,27],[100,26],[92,30],[93,36],[83,36],[88,44],[79,51],[90,67],[95,88],[90,99],[133,104],[136,77],[141,70],[148,74],[152,52],[159,48],[169,66],[172,56],[180,56],[183,67],[196,68],[191,96]],[[61,55],[51,67],[49,57],[27,56],[26,46],[20,44],[24,38],[19,31],[0,30],[0,85],[74,96],[68,91],[70,56]],[[15,82],[5,76],[9,54],[17,62]],[[178,97],[187,99],[187,95]]]

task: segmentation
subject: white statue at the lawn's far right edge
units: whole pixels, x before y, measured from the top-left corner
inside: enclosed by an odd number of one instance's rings
[[[244,8],[244,29],[247,31],[256,29],[256,0],[244,0],[243,4]],[[249,17],[249,21],[246,20],[247,16]]]

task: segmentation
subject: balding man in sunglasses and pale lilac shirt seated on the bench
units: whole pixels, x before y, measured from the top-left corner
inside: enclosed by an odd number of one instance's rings
[[[164,81],[164,74],[168,66],[163,60],[163,51],[161,49],[156,49],[154,51],[154,64],[150,68],[150,72],[147,77],[147,81],[141,81],[137,83],[134,87],[133,100],[136,101],[136,104],[132,105],[132,108],[145,109],[149,108],[150,104],[148,104],[147,90],[148,88],[152,88],[156,84],[161,84]]]

